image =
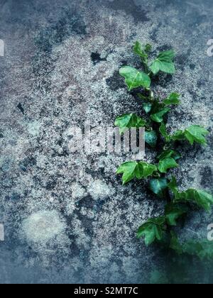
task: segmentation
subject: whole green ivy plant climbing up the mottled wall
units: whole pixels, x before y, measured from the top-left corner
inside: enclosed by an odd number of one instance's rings
[[[180,192],[175,177],[168,175],[170,169],[178,167],[178,160],[181,158],[176,150],[177,144],[181,142],[207,145],[206,137],[209,131],[202,126],[192,125],[185,130],[168,133],[168,113],[173,106],[180,104],[180,94],[173,92],[160,100],[153,94],[152,80],[161,72],[175,74],[175,52],[168,50],[158,53],[154,60],[149,61],[151,50],[151,45],[143,46],[137,41],[133,46],[133,52],[141,58],[141,70],[130,66],[121,67],[120,70],[129,92],[139,87],[142,89],[138,97],[146,116],[141,118],[136,114],[124,114],[116,118],[115,125],[119,126],[121,133],[131,127],[145,127],[146,143],[151,148],[156,148],[156,151],[160,148],[160,153],[156,154],[154,164],[144,160],[124,162],[118,168],[117,174],[122,175],[123,184],[135,179],[147,180],[148,189],[153,192],[153,196],[165,199],[164,214],[143,223],[138,228],[138,238],[144,238],[146,245],[162,243],[178,254],[197,255],[202,259],[213,258],[212,243],[190,240],[181,243],[174,231],[174,227],[187,216],[191,206],[209,211],[213,204],[212,194],[200,189],[186,189]]]

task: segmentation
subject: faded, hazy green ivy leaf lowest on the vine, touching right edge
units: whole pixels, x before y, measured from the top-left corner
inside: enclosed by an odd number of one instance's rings
[[[182,246],[182,250],[188,255],[196,255],[201,260],[213,260],[213,243],[211,241],[187,241]]]

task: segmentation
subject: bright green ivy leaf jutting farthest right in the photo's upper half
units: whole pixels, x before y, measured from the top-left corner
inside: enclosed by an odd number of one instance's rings
[[[209,131],[207,131],[205,128],[197,125],[192,125],[185,130],[185,137],[191,145],[193,145],[194,142],[207,144],[205,136],[207,136],[208,133]]]

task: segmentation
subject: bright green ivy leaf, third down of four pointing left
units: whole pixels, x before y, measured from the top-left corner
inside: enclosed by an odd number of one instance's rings
[[[134,178],[142,179],[153,175],[153,172],[157,170],[155,165],[151,165],[147,162],[124,162],[119,169],[117,174],[123,174],[123,184],[133,180]]]

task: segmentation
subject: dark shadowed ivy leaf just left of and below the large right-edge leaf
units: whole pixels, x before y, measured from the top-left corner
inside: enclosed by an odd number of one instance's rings
[[[170,226],[176,226],[177,225],[177,219],[180,218],[180,216],[186,214],[188,211],[186,206],[180,206],[178,204],[170,203],[165,206],[165,218]]]

